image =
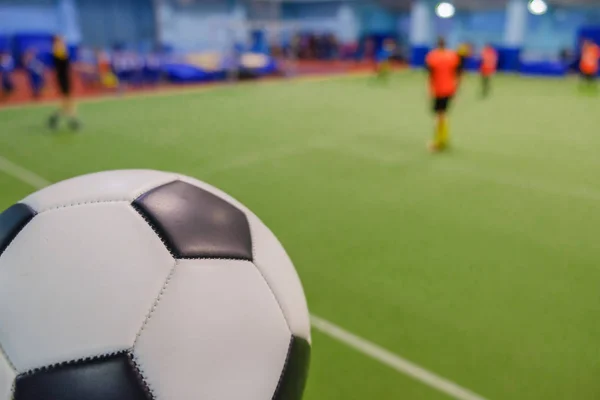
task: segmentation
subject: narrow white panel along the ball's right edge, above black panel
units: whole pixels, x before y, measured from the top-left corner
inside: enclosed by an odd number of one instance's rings
[[[279,240],[252,213],[247,213],[254,246],[254,264],[273,289],[295,336],[310,342],[310,317],[298,273]]]

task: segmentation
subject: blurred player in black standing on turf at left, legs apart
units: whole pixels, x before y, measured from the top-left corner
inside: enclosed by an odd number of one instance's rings
[[[77,104],[73,98],[71,85],[71,60],[69,59],[69,49],[64,39],[60,36],[54,37],[52,45],[52,58],[54,60],[54,72],[56,83],[62,96],[60,108],[50,116],[48,125],[51,129],[56,129],[60,118],[67,118],[69,127],[72,130],[78,130],[81,126],[77,119]]]

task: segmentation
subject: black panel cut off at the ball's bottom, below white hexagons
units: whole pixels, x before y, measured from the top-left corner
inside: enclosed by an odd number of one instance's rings
[[[152,400],[126,352],[17,377],[13,400]]]

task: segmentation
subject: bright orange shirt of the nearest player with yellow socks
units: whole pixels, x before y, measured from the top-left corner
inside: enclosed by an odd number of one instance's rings
[[[453,96],[458,87],[460,57],[455,51],[435,49],[427,54],[425,64],[430,71],[430,89],[435,97]]]

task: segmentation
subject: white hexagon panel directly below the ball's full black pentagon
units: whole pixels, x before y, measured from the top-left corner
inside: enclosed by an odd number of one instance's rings
[[[248,261],[181,260],[134,348],[157,399],[271,399],[291,333]]]

